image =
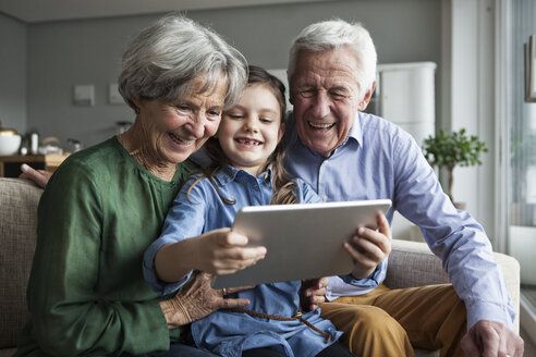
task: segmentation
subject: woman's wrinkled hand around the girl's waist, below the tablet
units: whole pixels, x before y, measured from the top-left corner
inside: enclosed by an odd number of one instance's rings
[[[226,298],[224,295],[237,293],[254,286],[214,290],[210,287],[211,279],[211,274],[195,272],[174,297],[160,301],[160,307],[169,329],[203,319],[221,308],[235,308],[249,305],[247,298]]]

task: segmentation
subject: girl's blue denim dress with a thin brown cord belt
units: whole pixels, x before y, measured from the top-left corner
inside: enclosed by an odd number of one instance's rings
[[[228,199],[234,198],[236,204],[226,205],[222,202],[215,187],[206,178],[192,188],[188,200],[186,192],[192,180],[186,182],[168,212],[160,237],[145,253],[145,279],[155,291],[162,295],[176,292],[187,278],[171,284],[158,280],[154,267],[155,255],[158,249],[168,243],[175,243],[211,230],[231,226],[236,212],[242,207],[269,205],[272,196],[269,171],[255,177],[243,170],[227,167],[216,175],[215,182],[218,183],[221,195]],[[295,182],[300,202],[321,201],[302,180],[295,180]],[[268,254],[270,253],[268,251]],[[261,284],[253,290],[230,295],[230,297],[248,298],[251,305],[246,308],[258,312],[292,317],[300,309],[300,281]],[[220,356],[241,357],[243,349],[271,347],[292,357],[316,356],[342,334],[336,330],[329,320],[320,318],[320,309],[318,308],[304,313],[303,318],[316,328],[329,333],[332,336],[331,342],[326,343],[325,336],[299,320],[267,320],[224,309],[193,322],[192,335],[198,347]]]

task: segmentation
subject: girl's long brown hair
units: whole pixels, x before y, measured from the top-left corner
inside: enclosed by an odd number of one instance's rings
[[[279,109],[281,111],[281,125],[287,122],[287,100],[284,96],[284,85],[276,76],[269,74],[266,70],[249,65],[249,75],[247,77],[247,86],[252,85],[264,85],[271,90],[279,103]],[[218,189],[218,185],[215,182],[216,173],[218,173],[226,164],[229,164],[223,150],[221,149],[220,143],[217,138],[210,137],[207,143],[205,143],[205,152],[210,158],[210,164],[203,170],[203,175],[198,177],[188,188],[190,190],[203,178],[208,178],[210,184],[216,188],[220,199],[227,205],[234,205],[235,199],[229,199],[221,195]],[[283,140],[281,139],[276,147],[276,150],[270,155],[266,161],[266,165],[263,171],[266,171],[271,167],[271,184],[273,187],[273,196],[271,197],[270,205],[289,205],[297,204],[296,196],[296,184],[292,181],[292,177],[284,169],[284,152],[285,147]]]

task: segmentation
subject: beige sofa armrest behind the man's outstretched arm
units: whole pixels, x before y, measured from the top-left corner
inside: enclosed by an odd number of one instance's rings
[[[513,257],[494,253],[495,262],[501,268],[507,288],[512,298],[516,317],[514,331],[520,331],[520,263]],[[386,285],[391,288],[442,284],[450,282],[442,270],[441,259],[425,243],[393,239],[389,255]]]

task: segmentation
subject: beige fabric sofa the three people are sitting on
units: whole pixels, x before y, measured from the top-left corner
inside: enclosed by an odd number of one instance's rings
[[[0,177],[0,357],[12,356],[17,335],[28,313],[26,284],[36,239],[37,205],[42,189],[19,178]],[[386,285],[391,288],[449,282],[441,261],[427,245],[393,239]],[[520,266],[503,254],[495,254],[502,268],[512,301],[519,311]],[[519,318],[514,322],[519,332]],[[416,356],[438,356],[416,350]]]

